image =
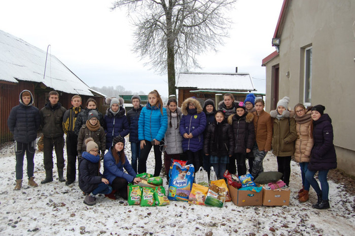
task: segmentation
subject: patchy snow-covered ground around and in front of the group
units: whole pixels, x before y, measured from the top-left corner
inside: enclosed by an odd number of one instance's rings
[[[125,152],[130,156],[127,138]],[[13,145],[0,150],[2,235],[353,235],[355,230],[354,196],[343,191],[341,185],[329,181],[331,209],[312,209],[311,204],[316,201],[313,189],[309,202],[298,202],[295,196],[302,184],[294,162],[289,206],[237,207],[229,202],[220,209],[172,201],[165,207],[128,206],[122,199],[114,201],[102,195],[95,206],[89,207],[83,204],[78,182],[65,186],[57,180],[56,168],[54,181],[40,184],[45,177],[43,153],[36,153],[34,160],[39,187],[27,186],[24,161],[23,187],[14,191]],[[154,172],[153,152],[147,167],[149,173]],[[264,160],[264,169],[277,170],[276,158],[270,153]]]

